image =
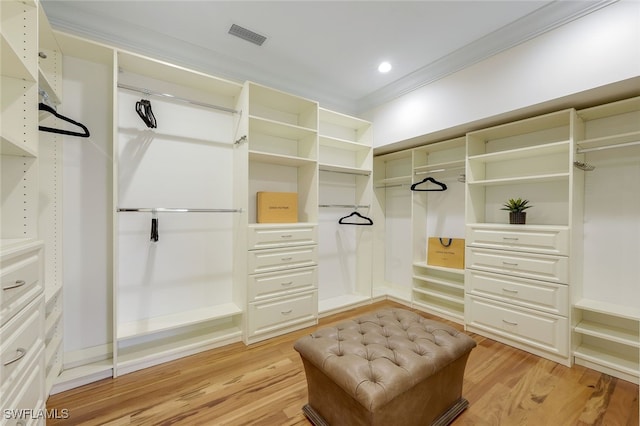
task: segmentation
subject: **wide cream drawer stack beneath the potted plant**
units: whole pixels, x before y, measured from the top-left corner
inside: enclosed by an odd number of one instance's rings
[[[469,331],[569,365],[569,230],[467,227]]]

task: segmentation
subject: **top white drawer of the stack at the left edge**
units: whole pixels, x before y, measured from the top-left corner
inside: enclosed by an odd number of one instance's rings
[[[40,247],[2,258],[0,325],[6,323],[43,291]]]

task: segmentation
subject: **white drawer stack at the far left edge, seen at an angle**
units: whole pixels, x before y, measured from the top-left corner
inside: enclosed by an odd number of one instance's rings
[[[42,244],[3,250],[0,282],[0,409],[22,424],[45,408]]]

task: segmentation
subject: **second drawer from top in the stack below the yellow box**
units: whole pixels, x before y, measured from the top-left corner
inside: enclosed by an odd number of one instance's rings
[[[315,266],[318,255],[316,246],[302,246],[250,251],[247,258],[249,273],[257,274]]]

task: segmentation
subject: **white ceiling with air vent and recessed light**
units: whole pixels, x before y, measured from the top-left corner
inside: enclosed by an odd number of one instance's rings
[[[353,114],[613,2],[41,0],[55,29]]]

